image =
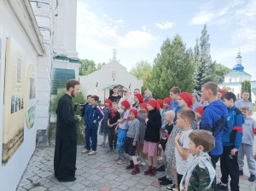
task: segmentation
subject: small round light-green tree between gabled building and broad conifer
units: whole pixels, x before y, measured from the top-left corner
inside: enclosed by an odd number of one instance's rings
[[[152,72],[152,65],[148,61],[137,61],[134,67],[131,67],[131,74],[138,79],[143,80],[143,90],[147,89],[146,79],[150,77]]]

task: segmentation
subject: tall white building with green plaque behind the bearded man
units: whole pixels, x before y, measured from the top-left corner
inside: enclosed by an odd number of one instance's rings
[[[49,103],[60,83],[79,78],[76,51],[77,1],[31,1],[47,57],[38,58],[38,146],[47,146]]]

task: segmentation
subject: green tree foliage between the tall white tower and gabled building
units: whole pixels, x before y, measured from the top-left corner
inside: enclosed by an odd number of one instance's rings
[[[86,76],[92,72],[96,72],[96,70],[100,70],[103,65],[105,65],[105,62],[103,63],[96,63],[94,61],[89,61],[87,59],[80,60],[81,66],[79,67],[79,75],[80,76]]]

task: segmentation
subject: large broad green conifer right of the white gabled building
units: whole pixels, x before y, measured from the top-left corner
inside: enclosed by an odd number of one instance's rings
[[[179,35],[164,41],[154,61],[151,75],[146,81],[155,99],[169,96],[173,86],[180,87],[182,91],[190,92],[194,89],[192,49],[186,49]]]

